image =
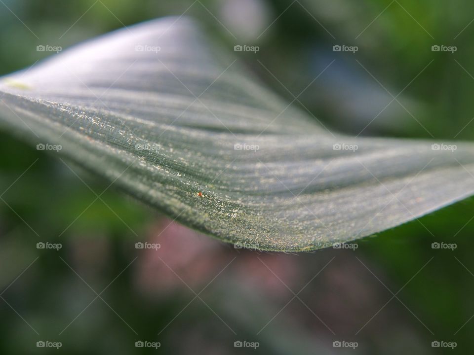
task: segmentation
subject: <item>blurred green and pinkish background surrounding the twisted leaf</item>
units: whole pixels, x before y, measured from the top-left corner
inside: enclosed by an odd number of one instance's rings
[[[474,3],[466,0],[1,0],[0,74],[51,55],[40,44],[66,49],[181,14],[223,50],[259,46],[234,55],[288,101],[306,88],[293,105],[330,129],[474,139]],[[358,50],[333,51],[338,44]],[[177,225],[8,132],[0,147],[1,354],[474,352],[473,199],[355,250],[264,253]],[[140,241],[160,248],[135,249]],[[40,340],[62,347],[37,348]],[[259,347],[235,348],[238,340]]]

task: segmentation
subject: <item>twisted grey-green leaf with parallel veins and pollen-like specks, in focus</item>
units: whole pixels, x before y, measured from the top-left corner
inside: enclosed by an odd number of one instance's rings
[[[122,29],[3,77],[1,121],[172,218],[257,249],[328,247],[473,194],[471,143],[330,133],[229,49],[186,18]]]

